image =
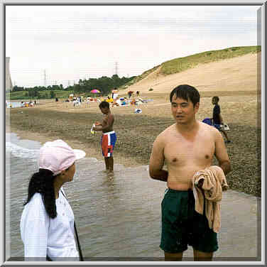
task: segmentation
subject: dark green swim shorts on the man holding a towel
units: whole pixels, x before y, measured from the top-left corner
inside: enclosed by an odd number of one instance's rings
[[[168,188],[161,202],[162,232],[160,249],[180,253],[187,245],[202,252],[218,249],[217,233],[209,229],[205,215],[195,211],[192,190],[177,191]]]

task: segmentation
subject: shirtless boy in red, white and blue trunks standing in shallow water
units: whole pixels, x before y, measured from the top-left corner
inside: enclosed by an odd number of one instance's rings
[[[102,131],[101,146],[102,155],[104,156],[106,170],[113,172],[114,160],[112,153],[116,143],[116,133],[113,130],[114,115],[109,109],[109,102],[103,101],[99,104],[99,109],[104,114],[102,123],[96,121],[94,123],[94,131]]]

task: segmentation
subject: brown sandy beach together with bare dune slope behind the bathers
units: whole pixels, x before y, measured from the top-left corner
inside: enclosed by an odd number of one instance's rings
[[[222,69],[227,64],[227,74],[222,77]],[[251,64],[250,64],[251,62]],[[187,84],[200,91],[200,111],[197,119],[202,121],[212,116],[212,97],[219,97],[224,123],[231,143],[227,150],[233,171],[227,175],[229,186],[233,190],[261,196],[261,92],[257,90],[257,55],[248,55],[238,60],[223,60],[196,67],[167,77],[158,77],[153,73],[143,84],[132,85],[120,91],[120,96],[139,88],[142,99],[151,99],[138,106],[112,107],[115,116],[114,130],[117,142],[114,150],[114,163],[125,166],[148,165],[153,141],[158,133],[174,123],[170,113],[169,94],[173,85]],[[246,65],[248,66],[246,68]],[[254,66],[254,67],[251,67]],[[239,70],[243,70],[240,71]],[[205,70],[205,71],[204,71]],[[208,71],[210,70],[210,71]],[[210,75],[212,72],[217,76]],[[232,71],[234,70],[234,71]],[[193,72],[193,74],[192,74]],[[249,73],[249,75],[248,75]],[[183,80],[181,76],[183,75]],[[193,82],[190,77],[194,76]],[[171,76],[171,77],[170,77]],[[197,80],[198,77],[198,80]],[[208,77],[212,77],[208,79]],[[156,80],[157,79],[157,80]],[[171,80],[167,82],[166,79]],[[211,86],[211,80],[220,81]],[[161,82],[160,82],[161,81]],[[230,81],[227,83],[227,81]],[[156,87],[158,83],[158,89]],[[224,86],[219,86],[224,85]],[[154,86],[153,86],[154,85]],[[165,86],[164,86],[165,85]],[[138,87],[137,87],[138,86]],[[153,91],[148,88],[153,86]],[[219,89],[218,89],[219,88]],[[72,103],[55,102],[54,99],[40,100],[36,107],[6,109],[6,131],[17,133],[21,138],[34,141],[50,141],[62,138],[73,148],[84,149],[88,157],[103,160],[100,151],[101,133],[90,133],[94,121],[101,121],[99,103],[82,103],[74,107]],[[134,110],[142,109],[141,114]],[[214,162],[216,163],[216,162]]]

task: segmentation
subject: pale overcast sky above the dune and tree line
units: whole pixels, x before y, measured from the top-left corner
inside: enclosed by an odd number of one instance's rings
[[[260,6],[6,6],[13,85],[131,77],[208,50],[257,45]]]

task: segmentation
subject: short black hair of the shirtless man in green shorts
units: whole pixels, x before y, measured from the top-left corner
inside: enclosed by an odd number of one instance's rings
[[[175,94],[176,98],[182,98],[193,103],[193,106],[195,107],[195,104],[200,102],[200,93],[195,89],[195,87],[192,87],[190,85],[179,85],[178,87],[175,87],[172,92],[170,92],[170,102],[173,100],[173,95]]]

